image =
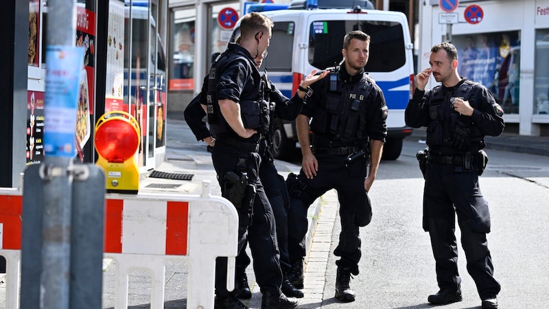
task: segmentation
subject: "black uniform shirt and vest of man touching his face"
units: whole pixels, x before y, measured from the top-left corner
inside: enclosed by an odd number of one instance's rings
[[[460,115],[454,108],[454,98],[469,101],[473,115]],[[482,84],[463,78],[454,87],[439,85],[428,91],[415,89],[405,111],[406,125],[412,128],[427,127],[427,145],[440,155],[454,155],[461,151],[452,146],[452,133],[456,125],[465,126],[471,135],[470,151],[484,148],[484,136],[498,136],[505,123],[503,110],[492,93]]]

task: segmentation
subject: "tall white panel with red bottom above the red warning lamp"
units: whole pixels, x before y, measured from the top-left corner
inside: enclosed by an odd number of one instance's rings
[[[105,112],[124,108],[124,2],[110,0],[108,5],[107,70]]]

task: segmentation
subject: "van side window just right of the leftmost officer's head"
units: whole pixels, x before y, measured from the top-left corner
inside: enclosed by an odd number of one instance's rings
[[[292,59],[288,49],[294,46],[295,24],[292,21],[276,21],[272,27],[271,44],[268,57],[263,61],[263,67],[268,71],[291,72]]]

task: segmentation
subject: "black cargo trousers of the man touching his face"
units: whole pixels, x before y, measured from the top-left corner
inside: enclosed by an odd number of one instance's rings
[[[460,291],[458,247],[454,231],[456,214],[467,271],[481,299],[500,292],[493,277],[493,264],[486,234],[490,232],[488,203],[480,192],[475,170],[429,161],[423,191],[423,229],[431,238],[436,280],[441,290]]]

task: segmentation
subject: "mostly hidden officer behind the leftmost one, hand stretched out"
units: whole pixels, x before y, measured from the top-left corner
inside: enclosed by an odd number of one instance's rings
[[[237,40],[237,43],[240,42]],[[265,51],[263,54],[255,58],[257,68],[261,66],[263,59],[267,56]],[[316,80],[324,78],[327,72],[315,75],[314,70],[301,83],[302,88],[309,87],[309,84]],[[206,89],[203,89],[206,90]],[[274,84],[268,79],[267,72],[261,76],[261,91],[260,98],[270,103],[270,119],[275,115],[279,119],[293,120],[297,117],[303,106],[305,93],[297,91],[294,97],[290,100],[286,98]],[[203,105],[202,105],[203,104]],[[206,105],[205,95],[200,93],[197,95],[187,108],[185,108],[185,121],[189,124],[192,132],[198,141],[202,140],[208,144],[209,151],[215,146],[215,139],[211,136],[209,128],[202,120],[207,114],[203,106]],[[283,271],[283,282],[281,290],[288,297],[303,297],[303,292],[290,284],[286,279],[285,274],[290,270],[290,262],[288,258],[288,218],[286,211],[290,207],[290,197],[285,185],[283,177],[278,173],[274,166],[274,157],[272,155],[272,122],[270,123],[266,138],[259,143],[259,155],[261,156],[261,165],[259,166],[259,179],[265,187],[267,198],[271,204],[274,213],[274,221],[277,227],[277,243],[280,251],[280,263]],[[235,275],[235,296],[242,299],[249,299],[252,295],[248,286],[248,278],[246,276],[246,267],[250,264],[250,258],[246,254],[246,244],[239,252],[236,258],[236,275]]]

